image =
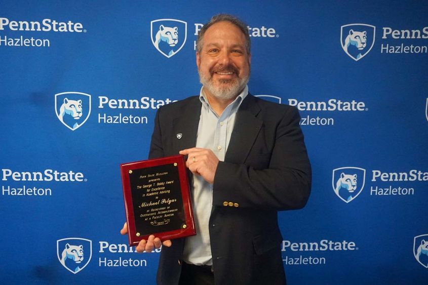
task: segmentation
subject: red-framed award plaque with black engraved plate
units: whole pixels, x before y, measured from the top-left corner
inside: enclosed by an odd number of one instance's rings
[[[130,246],[196,234],[182,155],[121,164],[121,173]]]

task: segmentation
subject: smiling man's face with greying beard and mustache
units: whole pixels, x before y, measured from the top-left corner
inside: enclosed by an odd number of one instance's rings
[[[244,33],[230,22],[208,28],[196,55],[199,77],[207,96],[230,100],[238,96],[250,77],[251,55]]]

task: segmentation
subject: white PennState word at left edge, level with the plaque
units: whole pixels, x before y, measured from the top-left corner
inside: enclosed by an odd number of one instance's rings
[[[59,172],[46,169],[44,172],[17,172],[10,169],[2,169],[2,180],[7,181],[11,177],[14,181],[86,181],[82,172]]]

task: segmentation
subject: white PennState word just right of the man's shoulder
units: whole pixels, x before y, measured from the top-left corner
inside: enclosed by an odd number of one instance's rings
[[[288,99],[290,106],[295,106],[299,111],[367,111],[364,102],[355,100],[342,101],[337,99],[329,99],[325,101],[308,101],[299,102],[297,99]]]

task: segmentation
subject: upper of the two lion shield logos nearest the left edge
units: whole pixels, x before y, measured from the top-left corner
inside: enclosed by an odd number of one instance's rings
[[[81,92],[55,94],[55,112],[65,127],[77,130],[91,114],[91,95]]]

